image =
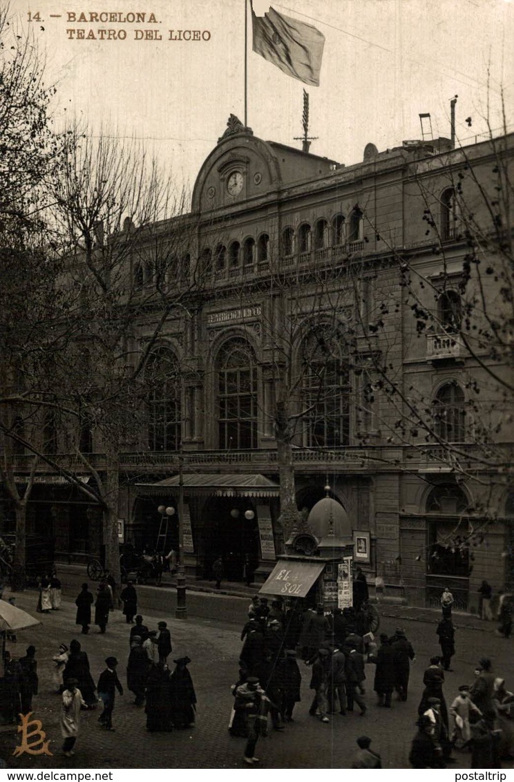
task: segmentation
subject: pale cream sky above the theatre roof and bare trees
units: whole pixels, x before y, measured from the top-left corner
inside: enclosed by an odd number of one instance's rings
[[[421,138],[419,113],[430,113],[434,138],[449,136],[454,95],[457,136],[469,143],[487,131],[487,115],[502,127],[502,89],[514,130],[514,0],[285,2],[273,7],[325,35],[320,86],[306,87],[311,152],[358,163],[368,142],[381,151]],[[263,13],[269,3],[258,5]],[[45,56],[56,124],[78,118],[94,133],[140,138],[180,184],[192,188],[229,114],[244,120],[245,0],[12,0],[10,12]],[[78,21],[102,12],[156,21]],[[251,51],[248,16],[248,125],[300,147],[305,85]],[[100,40],[99,30],[116,38]],[[176,40],[178,30],[199,30],[200,40]]]

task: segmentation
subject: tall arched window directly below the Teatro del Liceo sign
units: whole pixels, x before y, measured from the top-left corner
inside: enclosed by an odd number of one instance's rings
[[[244,339],[217,356],[219,447],[257,448],[257,362]]]

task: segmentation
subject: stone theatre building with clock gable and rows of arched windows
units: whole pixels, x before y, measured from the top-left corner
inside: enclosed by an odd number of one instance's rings
[[[196,178],[196,249],[180,262],[182,279],[207,270],[209,293],[154,350],[177,370],[122,456],[120,540],[153,550],[164,531],[176,548],[182,493],[189,577],[210,577],[221,554],[228,579],[262,582],[287,536],[289,460],[303,518],[337,500],[368,580],[420,605],[448,585],[460,608],[482,579],[512,585],[512,363],[486,345],[510,252],[488,194],[512,149],[369,144],[345,167],[231,117]],[[151,269],[131,274],[153,285]],[[142,343],[158,315],[141,319]],[[95,432],[90,450],[101,472]],[[99,511],[44,467],[30,506],[58,551],[100,551]]]

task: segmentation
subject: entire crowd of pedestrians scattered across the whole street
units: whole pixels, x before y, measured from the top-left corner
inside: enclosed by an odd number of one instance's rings
[[[46,610],[47,600],[54,610],[59,608],[60,588],[55,574],[41,581],[41,610]],[[48,594],[44,594],[45,590]],[[481,590],[480,615],[487,621],[492,617],[487,582],[483,582]],[[268,730],[289,730],[288,723],[297,718],[304,677],[313,696],[305,716],[308,714],[324,725],[334,720],[339,723],[341,718],[351,719],[352,712],[365,716],[373,705],[368,694],[371,688],[376,694],[376,707],[409,708],[401,704],[409,700],[415,649],[402,627],[394,633],[380,633],[379,639],[368,631],[365,579],[361,579],[357,598],[354,602],[358,610],[333,608],[329,613],[323,604],[306,607],[304,601],[294,598],[252,598],[241,631],[239,674],[232,685],[228,723],[230,734],[246,742],[243,762],[247,765],[259,762],[259,737],[268,734]],[[146,729],[169,732],[193,726],[196,693],[188,668],[192,661],[188,656],[176,658],[174,670],[168,668],[172,652],[170,630],[163,621],[152,629],[136,613],[138,597],[133,583],[128,582],[119,597],[116,584],[108,575],[99,583],[95,597],[88,583],[82,584],[75,601],[76,623],[81,632],[89,632],[94,607],[95,624],[99,633],[105,633],[116,601],[123,606],[125,620],[131,625],[126,685],[134,695],[133,704],[144,707]],[[472,768],[501,768],[501,759],[514,758],[514,694],[505,687],[505,679],[493,670],[489,658],[480,659],[473,681],[461,681],[458,685],[452,682],[453,689],[448,687],[445,673],[454,673],[453,606],[453,595],[445,588],[440,598],[442,615],[435,628],[440,655],[430,658],[430,665],[422,674],[424,689],[413,714],[418,730],[408,759],[414,768],[444,769],[458,762],[458,753],[470,752]],[[509,621],[512,624],[509,606],[512,602],[505,599],[498,608],[501,634],[505,637],[509,637]],[[100,728],[115,730],[116,696],[124,691],[117,673],[119,663],[113,655],[108,656],[105,669],[95,679],[87,653],[74,638],[69,644],[59,644],[52,664],[52,681],[62,698],[63,753],[70,757],[74,754],[82,709],[95,709],[101,703]],[[2,721],[15,723],[20,713],[31,712],[32,699],[37,694],[35,647],[27,647],[26,655],[18,660],[6,651]],[[364,734],[358,738],[353,768],[382,767],[380,755],[371,744],[372,739]]]

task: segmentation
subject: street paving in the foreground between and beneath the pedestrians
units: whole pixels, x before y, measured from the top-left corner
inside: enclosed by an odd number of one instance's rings
[[[138,587],[145,592],[146,604],[159,605],[162,598],[159,590],[152,587]],[[150,591],[152,590],[152,591]],[[190,730],[174,731],[172,734],[149,734],[146,732],[144,709],[133,705],[133,695],[125,685],[125,665],[128,657],[129,626],[120,611],[111,613],[105,635],[92,626],[88,636],[82,636],[75,626],[75,606],[66,592],[59,612],[38,615],[41,626],[18,634],[17,644],[8,644],[15,656],[25,653],[29,643],[37,648],[39,694],[34,698],[34,718],[41,719],[46,737],[51,740],[54,755],[47,757],[23,755],[13,758],[18,743],[14,726],[4,726],[0,732],[0,755],[10,768],[239,768],[243,766],[244,740],[228,734],[228,716],[232,706],[230,685],[237,676],[237,659],[240,649],[241,626],[233,617],[245,617],[247,601],[230,595],[203,595],[204,601],[211,601],[213,615],[224,610],[230,623],[219,619],[190,618],[181,622],[173,615],[144,608],[142,613],[150,627],[156,627],[159,619],[165,619],[171,630],[173,652],[171,658],[189,655],[192,659],[189,669],[198,698],[196,726]],[[5,595],[4,595],[5,597]],[[16,604],[33,615],[37,594],[27,591],[16,595]],[[390,712],[376,707],[372,692],[374,666],[367,665],[368,712],[364,717],[358,712],[346,717],[332,716],[329,724],[308,716],[311,702],[309,683],[311,672],[303,663],[302,701],[297,704],[294,722],[282,732],[270,730],[269,736],[257,744],[257,756],[261,768],[348,768],[354,754],[355,739],[361,734],[372,737],[373,748],[383,757],[384,768],[408,768],[408,752],[415,734],[416,710],[422,692],[422,673],[428,665],[430,655],[437,654],[439,647],[435,635],[437,616],[427,615],[428,621],[411,621],[408,609],[395,608],[401,620],[390,613],[390,607],[383,608],[381,630],[392,633],[398,623],[403,625],[417,652],[412,665],[411,687],[407,703],[394,702]],[[208,613],[208,609],[204,612]],[[478,623],[474,620],[475,624]],[[455,697],[459,684],[473,680],[473,669],[482,655],[493,660],[494,672],[505,676],[508,689],[512,689],[512,640],[494,636],[494,625],[480,626],[477,632],[468,617],[455,617],[457,654],[452,661],[455,673],[446,674],[445,695],[448,702]],[[63,757],[59,731],[60,699],[52,692],[52,655],[59,643],[69,644],[72,638],[81,641],[87,651],[95,682],[105,667],[108,655],[119,660],[118,675],[124,685],[123,697],[117,697],[113,724],[115,733],[102,731],[97,722],[99,711],[82,712],[81,733],[77,740],[73,759]],[[172,667],[171,658],[169,663]],[[458,766],[469,766],[469,755],[458,755]]]

